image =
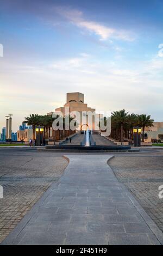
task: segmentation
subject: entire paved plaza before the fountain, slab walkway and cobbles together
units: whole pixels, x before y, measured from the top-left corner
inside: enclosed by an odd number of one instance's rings
[[[95,137],[99,144],[107,142]],[[162,243],[162,149],[64,154],[0,149],[0,242]]]

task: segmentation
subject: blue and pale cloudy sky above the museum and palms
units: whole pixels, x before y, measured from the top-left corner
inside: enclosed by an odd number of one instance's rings
[[[163,121],[162,0],[0,0],[0,56],[0,131],[67,92]]]

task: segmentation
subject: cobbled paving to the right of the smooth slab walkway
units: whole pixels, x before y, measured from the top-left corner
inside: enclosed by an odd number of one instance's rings
[[[158,187],[163,185],[162,155],[116,156],[109,164],[118,180],[163,231],[163,199],[158,197]]]

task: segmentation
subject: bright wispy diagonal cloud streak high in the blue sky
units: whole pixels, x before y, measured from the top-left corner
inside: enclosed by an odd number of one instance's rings
[[[84,28],[89,33],[98,35],[100,40],[108,40],[110,38],[124,41],[134,40],[134,36],[128,31],[110,28],[95,21],[85,20],[82,11],[63,7],[57,7],[55,8],[55,11],[66,19],[70,20],[77,27]]]

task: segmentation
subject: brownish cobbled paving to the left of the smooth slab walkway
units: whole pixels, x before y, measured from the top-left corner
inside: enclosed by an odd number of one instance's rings
[[[4,198],[0,199],[0,242],[67,166],[63,157],[13,157],[9,154],[10,150],[1,149],[0,155],[0,185],[4,191]]]

